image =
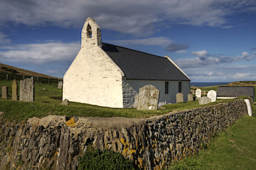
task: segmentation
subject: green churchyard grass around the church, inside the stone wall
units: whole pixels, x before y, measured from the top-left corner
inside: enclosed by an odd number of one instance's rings
[[[61,105],[62,90],[57,88],[57,84],[35,83],[35,102],[19,102],[10,100],[12,96],[12,81],[0,81],[0,86],[9,87],[9,99],[0,99],[0,111],[4,112],[4,118],[7,120],[26,121],[28,118],[36,116],[42,118],[49,114],[71,116],[99,116],[99,117],[126,117],[126,118],[148,118],[165,114],[171,111],[179,111],[202,107],[198,101],[179,104],[164,105],[166,109],[158,111],[137,111],[134,108],[117,109],[109,107],[100,107],[97,105],[80,104],[70,102],[70,105]],[[46,90],[44,90],[45,88]],[[1,89],[0,89],[1,90]],[[57,98],[57,99],[56,99]],[[217,100],[207,105],[214,105],[227,100]]]

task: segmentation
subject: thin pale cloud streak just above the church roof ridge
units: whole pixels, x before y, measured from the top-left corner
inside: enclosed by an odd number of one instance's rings
[[[110,43],[115,43],[118,45],[159,45],[159,46],[166,46],[172,42],[169,38],[164,36],[160,37],[153,37],[153,38],[137,38],[131,40],[111,40],[108,41]]]

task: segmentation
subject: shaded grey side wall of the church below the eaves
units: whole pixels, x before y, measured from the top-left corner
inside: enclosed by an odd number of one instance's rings
[[[189,81],[167,81],[168,94],[165,94],[165,82],[166,81],[151,81],[151,80],[132,80],[123,79],[123,103],[124,107],[132,107],[135,95],[138,94],[139,89],[147,84],[152,84],[159,89],[159,104],[163,103],[176,103],[176,94],[179,93],[179,82],[182,82],[181,93],[184,95],[184,101],[188,101],[188,94],[190,93]],[[131,104],[132,103],[132,104]]]

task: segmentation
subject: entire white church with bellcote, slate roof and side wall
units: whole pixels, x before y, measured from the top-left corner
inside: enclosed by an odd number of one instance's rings
[[[168,56],[102,43],[100,27],[86,19],[81,49],[63,77],[63,100],[106,107],[132,107],[139,89],[152,84],[159,103],[190,93],[190,79]]]

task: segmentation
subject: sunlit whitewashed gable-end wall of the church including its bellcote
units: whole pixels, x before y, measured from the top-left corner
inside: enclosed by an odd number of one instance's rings
[[[92,38],[87,36],[88,24]],[[63,77],[63,100],[122,108],[124,73],[101,49],[100,28],[93,19],[86,20],[81,42],[81,50]]]

